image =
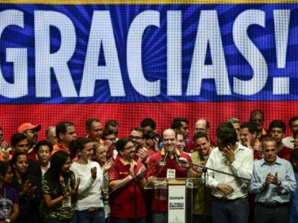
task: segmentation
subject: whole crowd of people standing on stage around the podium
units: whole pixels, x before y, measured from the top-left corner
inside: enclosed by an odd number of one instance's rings
[[[145,118],[120,139],[116,120],[96,118],[78,138],[69,121],[48,127],[42,141],[41,125],[22,124],[10,142],[0,128],[0,223],[167,223],[167,190],[144,187],[186,177],[207,186],[192,192],[193,223],[298,223],[298,116],[286,138],[282,120],[263,123],[254,110],[211,136],[198,119],[193,139],[186,118],[160,135]]]

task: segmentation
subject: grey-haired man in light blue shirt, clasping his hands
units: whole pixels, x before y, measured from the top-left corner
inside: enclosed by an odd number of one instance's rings
[[[290,193],[296,189],[291,163],[277,156],[274,138],[262,142],[264,158],[254,162],[248,187],[255,194],[254,223],[288,223]]]

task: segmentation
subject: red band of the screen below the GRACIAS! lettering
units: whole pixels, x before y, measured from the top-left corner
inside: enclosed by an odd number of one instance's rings
[[[274,119],[288,120],[297,115],[298,101],[264,101],[264,102],[175,102],[175,103],[120,103],[120,104],[36,104],[36,105],[0,105],[0,126],[4,140],[17,131],[25,122],[41,124],[39,139],[45,138],[47,127],[60,121],[71,121],[75,125],[77,136],[85,135],[86,119],[95,117],[102,123],[108,119],[119,122],[119,136],[128,136],[132,127],[139,126],[142,119],[153,118],[157,132],[170,127],[174,117],[186,117],[189,120],[190,135],[196,119],[205,118],[210,122],[211,136],[214,138],[218,124],[231,117],[240,122],[249,118],[250,111],[261,109],[265,115],[265,127]],[[289,128],[287,135],[290,134]]]

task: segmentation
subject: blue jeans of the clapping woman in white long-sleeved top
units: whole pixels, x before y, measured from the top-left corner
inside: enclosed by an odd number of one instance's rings
[[[99,208],[94,212],[75,211],[78,223],[105,223],[104,209]]]

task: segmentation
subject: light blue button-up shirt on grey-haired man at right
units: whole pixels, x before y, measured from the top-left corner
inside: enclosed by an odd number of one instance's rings
[[[263,187],[268,173],[275,175],[278,173],[280,186],[270,184]],[[249,184],[249,192],[256,194],[255,202],[272,204],[289,202],[290,193],[296,188],[296,180],[291,163],[277,156],[274,163],[269,164],[264,159],[254,162],[253,174]]]

